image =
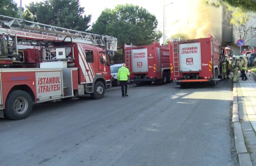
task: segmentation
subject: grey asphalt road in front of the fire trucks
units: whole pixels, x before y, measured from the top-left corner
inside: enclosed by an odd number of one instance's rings
[[[0,119],[0,165],[238,165],[230,80],[128,91],[37,104],[24,120]]]

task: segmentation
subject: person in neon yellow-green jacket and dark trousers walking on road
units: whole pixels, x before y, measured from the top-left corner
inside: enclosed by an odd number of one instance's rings
[[[117,80],[120,82],[122,97],[128,96],[128,76],[130,75],[129,69],[125,67],[125,63],[118,69]]]

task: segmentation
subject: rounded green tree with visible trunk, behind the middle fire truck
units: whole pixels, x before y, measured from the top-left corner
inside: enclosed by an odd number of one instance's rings
[[[159,41],[162,33],[156,30],[157,24],[155,15],[145,8],[125,4],[113,10],[105,8],[92,25],[92,32],[116,37],[118,48],[123,49],[124,44],[146,45]],[[121,58],[122,54],[117,53],[115,60]]]

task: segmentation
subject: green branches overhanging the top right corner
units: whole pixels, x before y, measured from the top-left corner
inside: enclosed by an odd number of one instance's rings
[[[204,0],[204,2],[216,7],[223,4],[229,4],[230,6],[238,7],[242,10],[256,12],[255,0]]]

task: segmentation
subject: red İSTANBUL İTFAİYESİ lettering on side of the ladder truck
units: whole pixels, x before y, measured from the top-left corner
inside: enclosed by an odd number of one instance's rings
[[[38,91],[37,93],[45,93],[51,91],[59,91],[60,77],[41,77],[37,80]]]

